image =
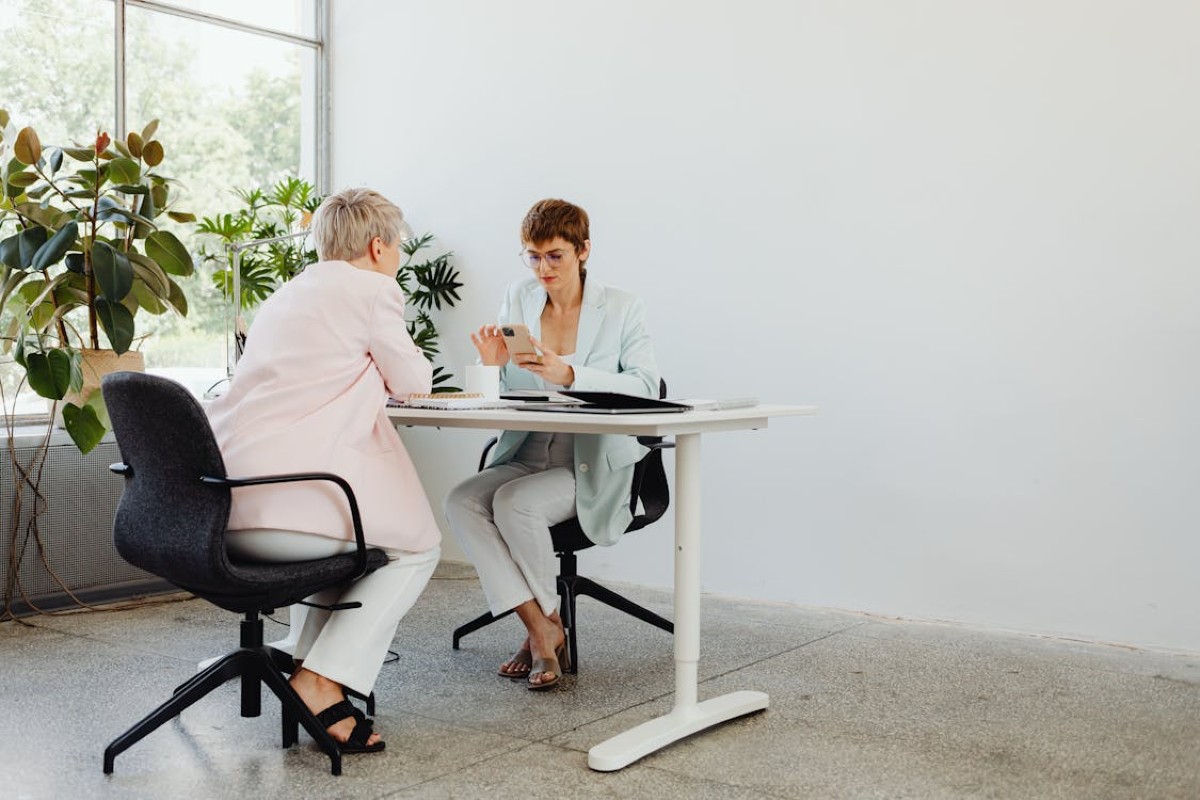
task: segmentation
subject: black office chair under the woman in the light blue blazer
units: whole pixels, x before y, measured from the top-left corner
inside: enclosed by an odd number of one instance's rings
[[[666,396],[666,381],[660,380],[659,397]],[[479,457],[479,471],[482,471],[487,465],[487,453],[491,452],[497,441],[496,438],[492,438],[484,445],[484,452]],[[634,486],[629,498],[629,510],[632,512],[634,519],[625,528],[626,534],[658,521],[666,513],[671,500],[667,474],[662,467],[662,451],[674,447],[674,443],[666,441],[662,437],[637,437],[637,441],[649,447],[650,452],[634,465]],[[641,513],[637,512],[638,505],[642,507]],[[566,642],[571,655],[571,666],[568,672],[576,673],[580,666],[580,649],[575,636],[575,601],[581,595],[599,600],[606,606],[623,610],[643,622],[662,628],[667,633],[674,633],[674,625],[668,620],[577,572],[575,554],[594,545],[583,533],[583,528],[580,527],[578,518],[571,517],[553,525],[550,529],[550,537],[554,545],[554,554],[558,555],[558,596],[562,601],[559,615],[563,618],[563,627],[566,630]],[[514,610],[516,609],[510,609],[499,616],[488,612],[458,626],[454,632],[454,649],[458,649],[458,642],[462,637],[508,616]]]

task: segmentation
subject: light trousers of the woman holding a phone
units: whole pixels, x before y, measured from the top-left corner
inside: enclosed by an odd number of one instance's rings
[[[535,600],[548,616],[558,608],[550,528],[575,516],[575,438],[530,433],[511,462],[451,489],[445,515],[492,614]]]

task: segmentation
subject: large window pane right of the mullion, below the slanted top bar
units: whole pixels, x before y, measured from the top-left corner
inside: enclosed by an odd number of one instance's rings
[[[179,181],[176,210],[233,213],[241,203],[235,190],[288,175],[312,180],[312,48],[133,7],[126,23],[128,127],[161,120],[160,170]],[[197,252],[197,239],[185,242]],[[140,331],[155,331],[143,348],[148,367],[223,369],[227,308],[215,266],[198,261],[197,275],[184,279],[186,319],[138,315]]]

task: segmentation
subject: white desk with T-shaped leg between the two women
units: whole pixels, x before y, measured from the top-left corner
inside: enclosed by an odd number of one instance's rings
[[[731,692],[697,702],[700,663],[700,437],[720,431],[766,428],[772,416],[816,414],[811,405],[756,405],[683,414],[558,414],[493,409],[440,411],[390,408],[395,425],[442,428],[614,433],[676,438],[674,708],[661,717],[602,741],[588,751],[588,766],[608,772],[684,736],[767,708],[764,692]]]

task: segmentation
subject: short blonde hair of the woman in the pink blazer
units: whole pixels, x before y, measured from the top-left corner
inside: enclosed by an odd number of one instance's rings
[[[330,194],[312,216],[317,258],[349,261],[367,252],[378,236],[389,245],[400,240],[403,212],[379,192],[348,188]]]

